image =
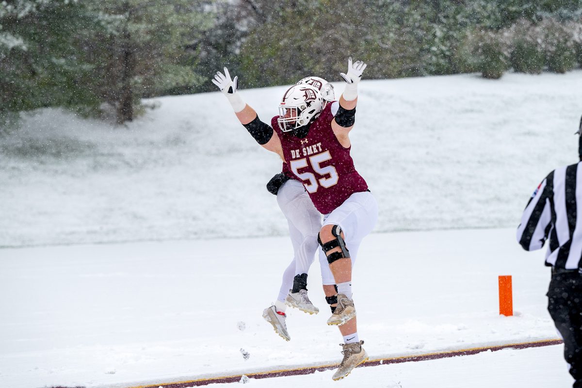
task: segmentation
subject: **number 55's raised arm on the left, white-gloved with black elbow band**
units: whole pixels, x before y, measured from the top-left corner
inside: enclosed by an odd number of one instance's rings
[[[283,148],[281,146],[281,140],[277,136],[276,132],[269,126],[269,124],[262,122],[257,115],[257,112],[246,102],[240,98],[237,92],[239,85],[239,77],[230,79],[230,74],[226,67],[224,68],[224,74],[217,72],[212,80],[218,88],[225,95],[228,102],[232,106],[233,111],[235,111],[237,119],[240,123],[249,131],[254,140],[257,141],[263,148],[268,149],[268,151],[275,152],[283,158]]]

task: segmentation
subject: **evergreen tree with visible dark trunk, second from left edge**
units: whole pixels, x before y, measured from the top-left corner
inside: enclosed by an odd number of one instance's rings
[[[101,98],[112,105],[118,123],[134,118],[140,98],[191,92],[202,77],[194,72],[191,42],[210,27],[203,12],[207,2],[169,0],[95,1],[93,9],[109,20],[109,28],[91,41],[100,52]]]

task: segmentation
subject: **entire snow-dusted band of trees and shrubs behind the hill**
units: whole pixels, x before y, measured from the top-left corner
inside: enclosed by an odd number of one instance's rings
[[[132,120],[144,97],[212,91],[229,66],[244,87],[582,62],[581,0],[12,0],[0,3],[0,123],[65,106]]]

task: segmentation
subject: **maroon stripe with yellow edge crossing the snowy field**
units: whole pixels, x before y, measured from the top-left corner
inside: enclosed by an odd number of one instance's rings
[[[420,355],[405,355],[401,357],[390,357],[390,358],[378,358],[378,359],[371,359],[365,361],[363,364],[357,366],[377,366],[377,365],[389,365],[389,364],[400,364],[400,362],[413,362],[413,361],[425,361],[427,359],[438,359],[438,358],[448,358],[448,357],[456,357],[458,355],[471,355],[477,354],[484,351],[498,351],[503,349],[525,349],[525,348],[533,348],[533,347],[541,347],[541,346],[550,346],[550,345],[558,345],[561,344],[562,340],[541,340],[541,341],[533,341],[533,342],[522,342],[522,343],[514,343],[514,344],[505,344],[499,346],[485,346],[485,347],[477,347],[477,348],[469,348],[469,349],[461,349],[461,350],[450,350],[450,351],[442,351],[442,352],[435,352],[435,353],[427,353],[427,354],[420,354]],[[303,368],[293,368],[293,369],[282,369],[280,371],[267,371],[267,372],[255,372],[255,373],[247,373],[246,376],[249,379],[267,379],[267,378],[274,378],[274,377],[281,377],[281,376],[297,376],[297,375],[309,375],[310,373],[314,373],[315,371],[323,372],[328,371],[329,369],[335,369],[338,367],[339,364],[330,364],[330,365],[320,365],[320,366],[306,366]],[[157,384],[150,384],[150,385],[141,385],[141,386],[134,386],[130,388],[187,388],[187,387],[198,387],[204,386],[208,384],[214,383],[237,383],[240,382],[240,379],[243,375],[233,375],[233,376],[223,376],[223,377],[216,377],[216,378],[203,378],[197,380],[190,380],[190,381],[183,381],[183,382],[176,382],[176,383],[157,383]]]

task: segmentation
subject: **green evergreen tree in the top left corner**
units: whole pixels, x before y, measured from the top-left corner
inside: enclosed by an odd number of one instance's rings
[[[10,113],[98,104],[94,66],[77,47],[99,28],[79,2],[0,2],[0,126]]]

